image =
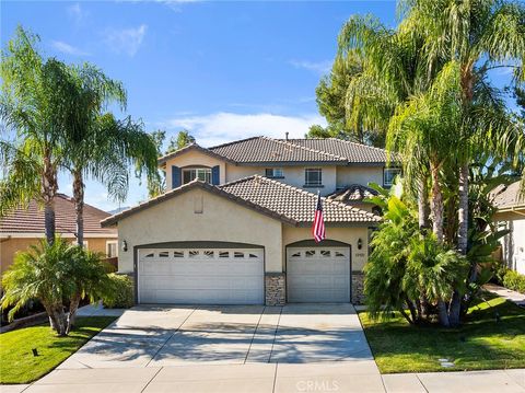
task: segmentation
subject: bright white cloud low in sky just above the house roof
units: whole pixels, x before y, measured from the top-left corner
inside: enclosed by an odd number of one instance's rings
[[[168,119],[159,124],[167,130],[188,129],[205,147],[220,145],[236,139],[255,136],[303,138],[313,124],[326,125],[326,120],[316,114],[304,116],[281,116],[270,113],[235,114],[219,112],[205,116],[186,116]]]

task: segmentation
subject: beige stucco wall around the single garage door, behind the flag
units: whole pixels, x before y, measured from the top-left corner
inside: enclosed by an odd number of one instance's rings
[[[282,226],[282,245],[283,245],[283,261],[285,255],[285,246],[300,242],[302,240],[312,240],[310,228],[295,228],[290,226]],[[339,242],[348,243],[352,246],[352,270],[362,270],[364,264],[369,258],[369,230],[366,227],[354,228],[326,228],[326,239],[337,240]],[[358,250],[358,239],[362,240],[362,247]],[[323,243],[319,243],[323,244]]]

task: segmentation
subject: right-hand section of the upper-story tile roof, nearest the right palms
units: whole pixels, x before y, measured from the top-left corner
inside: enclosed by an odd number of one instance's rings
[[[384,163],[386,150],[337,138],[289,139],[290,143],[345,157],[349,163]]]

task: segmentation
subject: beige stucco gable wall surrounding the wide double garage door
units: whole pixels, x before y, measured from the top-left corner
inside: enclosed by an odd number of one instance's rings
[[[194,208],[202,200],[202,212]],[[133,246],[173,241],[223,241],[265,246],[266,271],[281,271],[281,222],[207,190],[192,189],[122,219],[120,273],[133,271]]]

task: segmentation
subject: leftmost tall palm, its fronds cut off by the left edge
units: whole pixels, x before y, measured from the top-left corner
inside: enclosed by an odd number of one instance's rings
[[[0,216],[36,198],[45,208],[46,239],[55,240],[57,173],[63,160],[65,107],[71,85],[66,66],[43,60],[38,37],[16,28],[1,56]]]

